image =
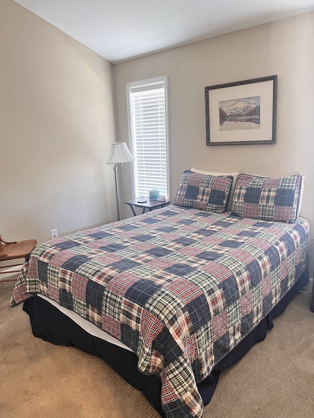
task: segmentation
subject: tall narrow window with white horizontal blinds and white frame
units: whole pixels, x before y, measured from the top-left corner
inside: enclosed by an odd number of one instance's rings
[[[167,77],[127,84],[130,147],[135,157],[133,195],[168,193]]]

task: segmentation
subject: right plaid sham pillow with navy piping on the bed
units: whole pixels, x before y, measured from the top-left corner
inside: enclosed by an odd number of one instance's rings
[[[294,222],[299,213],[302,176],[259,177],[239,174],[231,215],[263,221]]]

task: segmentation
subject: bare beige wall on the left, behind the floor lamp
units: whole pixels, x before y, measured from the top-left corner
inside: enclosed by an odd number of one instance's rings
[[[113,65],[0,2],[0,233],[51,239],[115,220]]]

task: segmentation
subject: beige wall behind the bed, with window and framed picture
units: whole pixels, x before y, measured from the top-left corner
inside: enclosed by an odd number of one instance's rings
[[[115,65],[118,136],[128,138],[126,83],[169,76],[171,199],[183,170],[306,177],[301,216],[314,265],[314,13],[260,25]],[[206,146],[204,87],[278,74],[275,145]],[[125,171],[130,169],[124,167]],[[123,197],[130,198],[128,173]],[[124,216],[130,216],[124,208]]]

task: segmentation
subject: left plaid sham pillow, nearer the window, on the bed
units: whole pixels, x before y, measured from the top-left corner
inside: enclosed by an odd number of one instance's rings
[[[208,212],[225,212],[233,179],[231,175],[207,175],[185,170],[174,204]]]

